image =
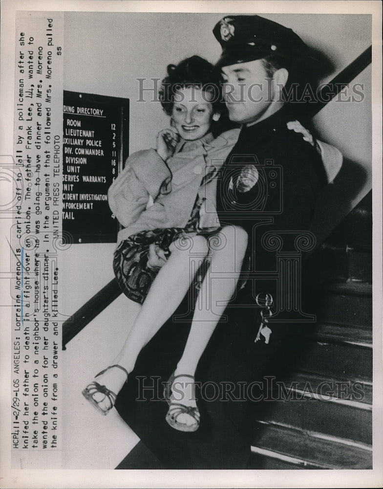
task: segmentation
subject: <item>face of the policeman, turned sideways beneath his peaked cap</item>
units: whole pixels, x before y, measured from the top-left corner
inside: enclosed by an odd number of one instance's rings
[[[222,77],[230,120],[251,124],[269,116],[272,81],[261,60],[223,67]]]

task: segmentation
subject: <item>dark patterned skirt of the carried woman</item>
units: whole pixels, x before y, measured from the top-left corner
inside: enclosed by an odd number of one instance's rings
[[[118,285],[124,294],[134,302],[143,304],[148,295],[158,269],[148,267],[149,245],[156,244],[164,250],[165,256],[170,256],[169,246],[175,240],[187,233],[209,235],[212,231],[198,228],[199,211],[204,199],[197,196],[189,222],[184,228],[171,227],[140,231],[122,241],[114,252],[113,270]],[[209,264],[205,261],[196,274],[193,286],[198,290]],[[201,270],[204,270],[201,272]]]

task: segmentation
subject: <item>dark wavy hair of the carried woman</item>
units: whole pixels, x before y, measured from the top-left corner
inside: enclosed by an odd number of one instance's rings
[[[162,80],[159,99],[164,111],[171,115],[175,90],[195,87],[213,95],[214,112],[221,113],[225,104],[222,100],[221,76],[209,61],[200,56],[186,58],[178,65],[168,65],[168,75]]]

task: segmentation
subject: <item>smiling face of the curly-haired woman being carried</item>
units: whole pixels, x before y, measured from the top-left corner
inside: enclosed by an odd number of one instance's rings
[[[174,91],[171,119],[177,133],[188,141],[200,139],[210,132],[213,120],[219,119],[210,102],[213,95],[196,87]]]

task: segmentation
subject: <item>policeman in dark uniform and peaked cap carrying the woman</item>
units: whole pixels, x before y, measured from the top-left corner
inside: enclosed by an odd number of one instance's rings
[[[271,395],[264,377],[266,365],[281,344],[285,347],[282,342],[289,328],[274,323],[260,328],[266,317],[261,312],[269,310],[270,297],[278,301],[275,244],[278,252],[296,252],[297,233],[307,230],[326,181],[316,149],[286,127],[294,119],[295,104],[290,100],[294,97],[289,94],[304,64],[305,44],[291,29],[259,16],[227,16],[213,33],[222,46],[217,68],[225,81],[229,117],[242,125],[218,182],[217,211],[222,225],[247,231],[248,260],[243,272],[245,276],[250,270],[250,276],[201,357],[196,374],[201,383],[199,429],[194,433],[169,429],[164,422],[167,406],[150,399],[135,403],[140,405],[131,407],[132,416],[124,415],[166,468],[248,467],[255,421],[249,413],[254,413],[252,406],[260,405],[256,400]],[[264,307],[258,306],[257,297]],[[182,334],[187,333],[169,323],[158,335],[164,341],[172,338],[176,351],[174,338],[179,347],[185,340]],[[158,341],[148,345],[147,357],[156,355]],[[154,371],[145,360],[137,371],[148,382]],[[168,360],[164,359],[164,365]],[[155,372],[158,375],[158,365]],[[122,392],[119,412],[122,406],[126,410],[134,394]],[[144,412],[149,412],[151,423]]]

